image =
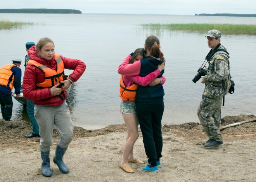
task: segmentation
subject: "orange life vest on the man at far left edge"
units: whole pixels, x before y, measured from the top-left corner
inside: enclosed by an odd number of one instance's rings
[[[8,64],[2,66],[0,69],[0,85],[7,86],[10,77],[12,77],[12,81],[9,83],[10,90],[13,89],[13,81],[14,81],[14,74],[12,73],[12,67],[17,66],[14,64]]]

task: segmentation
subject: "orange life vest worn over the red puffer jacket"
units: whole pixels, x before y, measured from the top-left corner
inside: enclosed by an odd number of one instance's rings
[[[42,65],[35,60],[29,60],[29,65],[35,65],[45,73],[45,81],[42,83],[36,83],[37,88],[51,88],[54,85],[67,79],[64,74],[64,64],[60,54],[55,54],[55,61],[57,62],[57,71]]]

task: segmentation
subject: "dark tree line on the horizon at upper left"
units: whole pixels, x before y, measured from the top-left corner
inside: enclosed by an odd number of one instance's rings
[[[71,9],[0,9],[0,13],[43,13],[43,14],[82,14]]]

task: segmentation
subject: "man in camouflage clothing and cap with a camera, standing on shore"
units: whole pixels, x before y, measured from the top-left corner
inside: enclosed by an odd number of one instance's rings
[[[220,44],[220,31],[210,30],[206,37],[211,51],[206,56],[209,64],[207,75],[201,77],[201,83],[205,83],[205,88],[197,116],[209,137],[203,145],[214,147],[223,144],[220,134],[221,101],[230,88],[230,56],[227,49]]]

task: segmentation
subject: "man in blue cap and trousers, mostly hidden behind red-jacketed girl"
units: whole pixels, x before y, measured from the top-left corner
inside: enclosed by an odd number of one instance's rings
[[[33,45],[35,45],[34,42],[27,42],[26,43],[26,51],[28,53],[28,49],[31,48]],[[28,65],[28,61],[29,61],[29,56],[28,54],[25,56],[25,67]],[[32,138],[32,137],[36,137],[36,136],[40,136],[39,135],[39,126],[36,122],[34,113],[35,104],[32,102],[32,100],[27,100],[27,113],[28,113],[28,117],[29,120],[31,122],[31,124],[33,125],[33,130],[31,133],[24,135],[26,138]]]

